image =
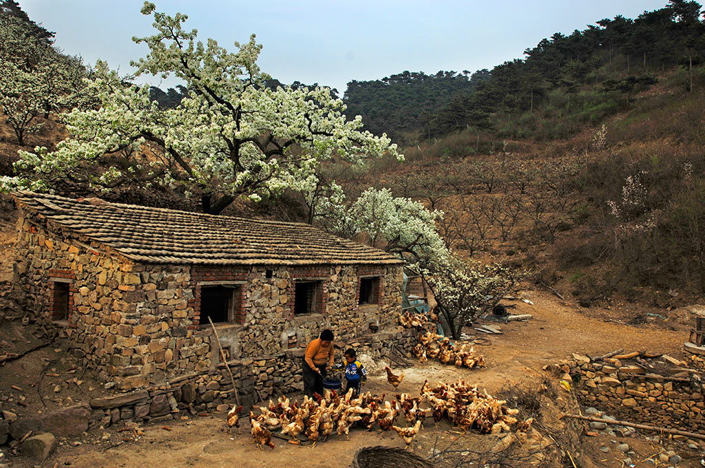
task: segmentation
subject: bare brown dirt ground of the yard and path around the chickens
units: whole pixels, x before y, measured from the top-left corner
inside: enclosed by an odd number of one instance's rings
[[[533,319],[501,325],[502,335],[482,335],[482,338],[489,338],[491,341],[491,345],[476,347],[486,358],[486,368],[471,371],[453,366],[446,367],[439,362],[427,362],[407,369],[398,369],[403,371],[405,378],[396,391],[386,382],[384,371],[370,376],[366,389],[376,394],[386,393],[389,398],[399,392],[417,393],[424,380],[435,383],[463,378],[481,389],[486,388],[491,394],[496,394],[503,388],[539,381],[548,376],[546,372],[541,371],[544,365],[570,357],[572,352],[600,355],[621,347],[625,350],[649,350],[680,356],[680,347],[687,338],[683,332],[605,321],[606,319],[578,312],[577,308],[563,303],[550,293],[532,291],[522,293],[521,297],[533,304],[521,300],[509,301],[507,304],[515,305],[510,312],[532,314]],[[599,315],[599,311],[596,312]],[[468,333],[472,331],[472,328],[467,330]],[[47,352],[53,353],[54,350]],[[23,359],[31,361],[34,358]],[[18,359],[18,363],[23,359]],[[8,367],[0,368],[0,382],[9,383],[8,370]],[[27,370],[27,378],[30,378],[32,369]],[[6,390],[4,386],[0,384],[3,391]],[[559,393],[553,412],[560,414],[561,402],[569,398],[567,393]],[[551,402],[548,405],[550,406]],[[246,418],[240,431],[235,429],[232,434],[224,429],[223,421],[224,414],[214,414],[175,420],[168,426],[147,424],[142,427],[144,435],[137,440],[130,437],[133,431],[119,431],[121,426],[110,427],[106,431],[94,431],[83,438],[61,441],[56,455],[39,466],[135,467],[146,464],[164,467],[231,467],[233,464],[240,464],[247,467],[332,468],[348,466],[355,451],[364,446],[404,445],[394,432],[377,433],[355,429],[350,432],[350,441],[339,441],[337,437],[333,437],[311,448],[290,445],[275,438],[274,450],[258,450],[251,443]],[[554,423],[553,429],[558,431],[565,424],[575,424],[565,419],[559,421],[557,418]],[[447,424],[435,428],[431,421],[419,433],[410,450],[427,456],[434,445],[443,448],[458,437],[461,437],[460,433]],[[485,438],[487,443],[494,443],[494,436],[464,437]],[[462,443],[466,442],[465,438]],[[639,454],[639,459],[635,460],[636,467],[648,466],[639,462],[642,458],[649,457],[658,450],[667,450],[653,441],[634,436],[624,439],[618,436],[586,437],[583,450],[597,466],[622,467],[623,456],[620,458],[615,455],[615,448],[611,448],[609,453],[599,451],[601,445],[612,446],[611,440],[630,443]],[[688,452],[682,447],[676,450],[684,458],[678,466],[699,466],[699,454],[696,451]],[[22,458],[14,458],[11,461],[13,466],[17,467],[36,466]]]

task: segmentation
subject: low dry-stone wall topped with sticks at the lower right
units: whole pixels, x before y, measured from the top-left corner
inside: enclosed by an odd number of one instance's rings
[[[625,421],[683,431],[705,430],[701,386],[687,378],[650,371],[649,365],[663,371],[663,362],[642,359],[646,366],[637,366],[618,359],[593,362],[586,356],[574,358],[563,364],[563,371],[575,383],[584,404]]]

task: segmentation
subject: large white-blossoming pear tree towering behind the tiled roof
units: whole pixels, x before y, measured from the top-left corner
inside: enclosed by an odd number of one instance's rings
[[[181,13],[157,13],[149,2],[142,13],[154,15],[157,33],[133,38],[149,47],[133,63],[133,78],[175,75],[188,97],[176,108],[159,109],[147,87],[97,63],[88,86],[99,106],[66,113],[70,136],[51,152],[20,152],[18,175],[0,185],[49,190],[69,178],[110,190],[161,180],[200,195],[203,211],[219,214],[240,196],[256,201],[311,185],[326,159],[363,164],[386,153],[403,159],[386,135],[362,130],[360,116],[346,118],[345,105],[328,88],[264,87],[269,76],[257,66],[262,46],[254,35],[229,52],[213,39],[198,41],[196,30],[183,30],[187,16]]]

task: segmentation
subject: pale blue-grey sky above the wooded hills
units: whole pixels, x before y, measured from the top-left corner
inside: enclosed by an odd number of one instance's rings
[[[101,58],[128,74],[147,54],[132,37],[152,35],[138,0],[18,0],[56,45],[87,63]],[[157,0],[157,11],[185,13],[185,30],[234,51],[251,34],[262,44],[259,67],[283,83],[334,87],[404,70],[471,73],[521,58],[554,32],[569,35],[602,18],[661,8],[667,0]],[[138,80],[166,90],[175,78]]]

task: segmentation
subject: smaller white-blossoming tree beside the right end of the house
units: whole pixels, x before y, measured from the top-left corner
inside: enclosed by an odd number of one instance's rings
[[[462,327],[493,307],[516,278],[501,266],[450,252],[436,230],[436,220],[442,216],[420,202],[393,197],[386,188],[369,188],[350,207],[331,216],[333,224],[328,228],[348,237],[364,233],[370,245],[403,256],[423,276],[444,326],[458,339]]]

